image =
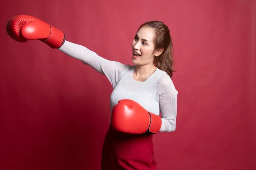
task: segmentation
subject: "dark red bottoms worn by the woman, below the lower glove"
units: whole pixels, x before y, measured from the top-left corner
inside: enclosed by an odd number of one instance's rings
[[[101,170],[157,170],[152,137],[117,132],[110,126],[102,148]]]

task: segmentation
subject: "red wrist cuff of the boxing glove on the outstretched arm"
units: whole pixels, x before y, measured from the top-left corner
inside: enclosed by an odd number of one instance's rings
[[[42,40],[44,43],[49,45],[51,48],[61,48],[64,44],[66,37],[63,31],[51,26],[51,34],[47,40]]]

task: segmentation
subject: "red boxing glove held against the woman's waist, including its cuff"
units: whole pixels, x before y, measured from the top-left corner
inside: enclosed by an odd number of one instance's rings
[[[122,99],[113,107],[111,125],[114,130],[123,133],[154,134],[160,130],[162,120],[139,103]]]

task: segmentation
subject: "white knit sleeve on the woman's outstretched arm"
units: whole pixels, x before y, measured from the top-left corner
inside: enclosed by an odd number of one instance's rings
[[[131,67],[131,65],[125,65],[120,62],[100,57],[94,51],[69,41],[65,41],[58,50],[64,52],[70,57],[80,60],[85,65],[89,65],[94,70],[105,75],[111,82],[113,88],[116,87],[116,84],[119,82],[125,71]]]

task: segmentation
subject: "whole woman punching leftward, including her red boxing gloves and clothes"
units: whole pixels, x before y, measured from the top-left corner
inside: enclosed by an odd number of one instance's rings
[[[159,21],[144,23],[125,65],[68,42],[59,29],[28,15],[12,17],[7,33],[19,42],[41,40],[105,75],[113,86],[111,122],[102,148],[102,170],[156,170],[152,136],[176,128],[177,90],[172,82],[172,39]],[[161,112],[161,117],[159,116]]]

